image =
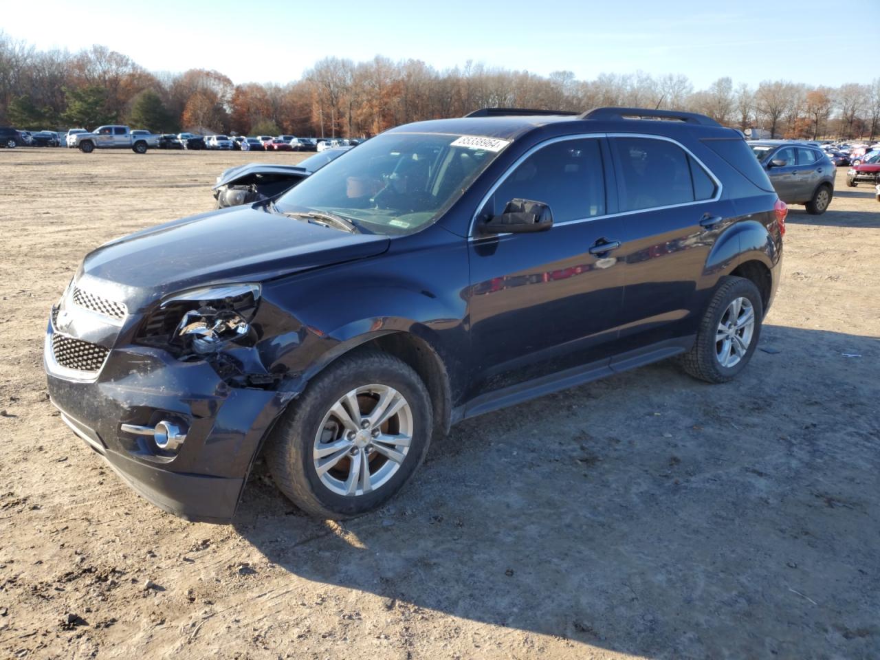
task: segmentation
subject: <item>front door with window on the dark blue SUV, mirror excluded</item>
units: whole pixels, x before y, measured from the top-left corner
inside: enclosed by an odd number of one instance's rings
[[[604,138],[546,143],[508,172],[481,209],[485,218],[516,198],[544,202],[554,225],[501,236],[477,231],[470,240],[472,396],[609,362],[623,272],[614,246],[620,218],[608,217],[607,158]]]

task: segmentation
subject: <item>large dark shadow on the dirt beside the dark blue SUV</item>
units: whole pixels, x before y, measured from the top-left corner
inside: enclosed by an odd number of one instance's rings
[[[310,581],[659,657],[880,653],[876,338],[765,326],[737,381],[658,363],[486,414],[383,509],[235,527]],[[537,643],[537,642],[536,642]]]

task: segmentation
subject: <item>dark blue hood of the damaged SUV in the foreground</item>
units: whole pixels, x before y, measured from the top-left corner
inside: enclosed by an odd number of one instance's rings
[[[85,290],[129,312],[176,291],[215,282],[260,282],[384,253],[390,239],[305,223],[259,206],[232,207],[160,224],[86,255]]]

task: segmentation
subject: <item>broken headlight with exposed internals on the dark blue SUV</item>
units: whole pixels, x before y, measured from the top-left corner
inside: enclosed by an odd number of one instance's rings
[[[175,353],[209,355],[230,342],[253,343],[250,323],[260,301],[259,284],[224,284],[165,298],[144,320],[138,340]]]

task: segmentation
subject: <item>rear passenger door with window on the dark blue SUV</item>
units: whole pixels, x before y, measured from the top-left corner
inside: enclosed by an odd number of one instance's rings
[[[658,136],[609,136],[614,158],[626,290],[620,351],[612,362],[674,351],[695,332],[707,290],[700,280],[715,237],[733,216],[721,184],[692,153]]]

